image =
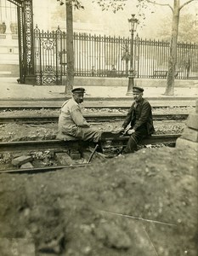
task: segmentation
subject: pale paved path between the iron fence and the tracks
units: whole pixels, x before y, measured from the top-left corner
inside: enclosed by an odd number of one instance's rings
[[[127,96],[127,88],[124,86],[83,86],[86,89],[86,98],[122,98],[130,99]],[[30,85],[18,84],[16,78],[0,78],[0,100],[61,100],[65,99],[64,85]],[[174,96],[164,96],[165,88],[144,87],[144,97],[161,100],[187,100],[198,98],[197,87],[175,87]]]

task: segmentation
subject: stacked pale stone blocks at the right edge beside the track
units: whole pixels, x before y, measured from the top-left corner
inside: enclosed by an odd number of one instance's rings
[[[176,148],[192,149],[198,153],[198,100],[195,113],[190,113],[184,132],[177,139]]]

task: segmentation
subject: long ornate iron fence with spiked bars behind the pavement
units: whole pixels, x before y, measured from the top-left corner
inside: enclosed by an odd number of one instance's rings
[[[74,33],[75,76],[128,76],[130,62],[129,38],[102,37]],[[34,31],[35,72],[37,84],[61,84],[66,75],[66,33]],[[170,43],[133,40],[133,67],[137,78],[166,79]],[[198,79],[198,45],[178,43],[176,79]]]

